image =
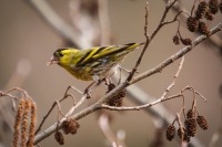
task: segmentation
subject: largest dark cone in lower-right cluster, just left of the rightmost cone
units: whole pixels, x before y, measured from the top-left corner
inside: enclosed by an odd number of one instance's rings
[[[196,120],[195,118],[185,119],[185,128],[188,130],[188,136],[195,136],[196,134]]]

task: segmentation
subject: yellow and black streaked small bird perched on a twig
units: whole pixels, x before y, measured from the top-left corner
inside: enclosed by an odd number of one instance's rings
[[[100,80],[112,76],[127,55],[144,43],[95,46],[87,50],[73,48],[58,49],[47,65],[59,64],[82,81],[93,81],[87,88]]]

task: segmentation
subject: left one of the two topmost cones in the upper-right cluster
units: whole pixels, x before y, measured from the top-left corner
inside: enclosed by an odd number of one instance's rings
[[[195,19],[204,18],[206,11],[208,11],[208,2],[201,1],[198,6],[198,10],[195,11]]]

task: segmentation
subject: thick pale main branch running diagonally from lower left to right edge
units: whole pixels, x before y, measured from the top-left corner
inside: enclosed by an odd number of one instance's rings
[[[211,35],[221,31],[222,29],[222,22],[220,22],[215,28],[213,28],[211,30]],[[155,73],[158,73],[159,71],[163,70],[164,67],[167,67],[168,65],[172,64],[174,61],[176,61],[178,59],[182,57],[184,54],[189,53],[190,51],[192,51],[192,49],[194,46],[196,46],[199,43],[201,43],[202,41],[204,41],[205,39],[208,39],[208,36],[205,35],[201,35],[199,38],[196,38],[193,42],[192,45],[185,46],[184,49],[180,50],[178,53],[173,54],[171,57],[169,57],[168,60],[165,60],[164,62],[162,62],[161,64],[159,64],[158,66],[135,76],[132,78],[131,82],[128,83],[122,83],[120,85],[118,85],[113,91],[111,91],[110,93],[108,93],[107,95],[104,95],[103,97],[101,97],[97,103],[92,104],[91,106],[82,109],[81,112],[74,114],[71,116],[71,118],[73,119],[80,119],[84,116],[87,116],[88,114],[100,109],[101,105],[104,104],[107,101],[109,101],[110,98],[112,98],[117,93],[121,92],[123,88],[128,87],[129,85],[137,83],[148,76],[151,76]],[[161,101],[161,99],[159,99]],[[164,99],[162,99],[164,101]],[[160,102],[155,102],[155,103],[160,103]],[[134,108],[137,109],[137,108]],[[61,122],[64,120],[61,119]],[[44,139],[46,137],[50,136],[54,130],[56,130],[57,124],[53,124],[52,126],[50,126],[48,129],[46,129],[43,133],[40,133],[39,135],[36,136],[34,138],[34,144],[38,144],[39,141],[41,141],[42,139]]]

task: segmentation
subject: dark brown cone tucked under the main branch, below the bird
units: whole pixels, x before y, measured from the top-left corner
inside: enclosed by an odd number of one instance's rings
[[[123,97],[127,96],[127,90],[124,88],[119,94],[114,95],[111,99],[107,102],[109,106],[117,106],[120,107],[123,104]]]

